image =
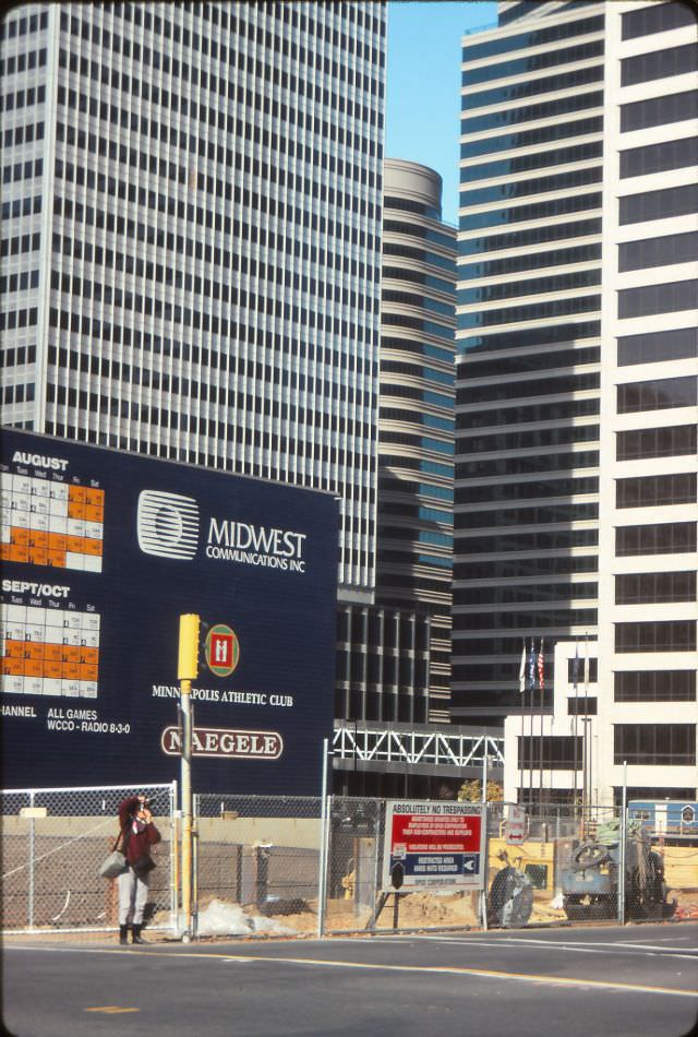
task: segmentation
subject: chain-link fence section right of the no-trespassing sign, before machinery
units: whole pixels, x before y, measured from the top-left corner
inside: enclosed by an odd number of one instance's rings
[[[698,917],[698,839],[662,838],[618,807],[512,817],[512,804],[489,804],[490,926]]]

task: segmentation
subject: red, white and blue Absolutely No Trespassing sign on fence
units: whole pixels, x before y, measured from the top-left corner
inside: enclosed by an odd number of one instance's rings
[[[481,820],[477,803],[388,801],[384,892],[483,889]]]

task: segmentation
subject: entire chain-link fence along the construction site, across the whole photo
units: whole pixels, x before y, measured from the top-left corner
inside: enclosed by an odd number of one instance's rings
[[[4,932],[116,929],[116,883],[98,872],[117,807],[136,791],[153,800],[163,836],[146,923],[179,933],[173,785],[0,794]],[[385,812],[380,799],[330,796],[323,809],[321,797],[194,796],[193,935],[698,918],[697,834],[673,837],[635,819],[624,832],[617,807],[582,817],[489,803],[484,895],[446,886],[386,897]]]

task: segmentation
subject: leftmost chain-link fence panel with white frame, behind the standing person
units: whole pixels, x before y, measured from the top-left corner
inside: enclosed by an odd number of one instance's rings
[[[119,833],[117,809],[145,792],[163,837],[153,853],[145,923],[174,927],[174,786],[16,789],[2,806],[2,931],[98,932],[118,928],[115,880],[99,868]]]

